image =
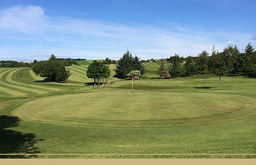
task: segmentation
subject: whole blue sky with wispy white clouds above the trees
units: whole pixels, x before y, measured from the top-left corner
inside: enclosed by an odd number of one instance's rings
[[[141,59],[256,48],[256,1],[1,0],[0,60]]]

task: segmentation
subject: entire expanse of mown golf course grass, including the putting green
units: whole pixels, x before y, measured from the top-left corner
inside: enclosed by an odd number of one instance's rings
[[[109,79],[114,83],[86,85],[92,82],[86,77],[89,62],[68,67],[68,84],[45,82],[30,68],[0,68],[0,117],[7,122],[0,134],[1,153],[92,154],[36,158],[255,158],[255,79],[223,77],[220,89],[218,77],[142,79],[133,82],[132,95],[131,81],[112,77],[115,64],[110,65]],[[158,76],[158,63],[143,65],[145,76]],[[120,155],[104,155],[113,153]],[[249,153],[254,155],[239,155]]]

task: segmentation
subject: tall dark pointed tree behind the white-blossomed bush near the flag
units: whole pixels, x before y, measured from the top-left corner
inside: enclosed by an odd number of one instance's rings
[[[131,71],[138,70],[140,71],[141,75],[145,73],[145,67],[139,61],[137,56],[132,57],[132,54],[129,50],[123,54],[123,57],[118,61],[118,65],[116,67],[116,76],[121,79],[125,79],[127,74]]]

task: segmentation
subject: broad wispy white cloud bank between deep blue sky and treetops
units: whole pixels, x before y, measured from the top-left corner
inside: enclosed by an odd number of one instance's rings
[[[220,51],[228,44],[243,49],[251,39],[247,33],[192,30],[173,22],[163,22],[162,26],[118,24],[46,15],[39,6],[0,11],[0,34],[4,38],[0,56],[10,58],[7,55],[12,54],[33,60],[38,54],[54,53],[57,57],[119,59],[127,48],[142,59],[166,58],[174,53],[196,56],[202,50],[211,53],[213,45]]]

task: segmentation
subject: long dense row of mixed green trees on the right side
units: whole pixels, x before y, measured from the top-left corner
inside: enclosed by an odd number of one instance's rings
[[[256,77],[256,52],[251,43],[242,53],[236,45],[228,45],[221,52],[213,46],[211,56],[203,50],[196,57],[183,58],[175,54],[167,58],[166,62],[162,62],[159,69],[162,78],[198,74]]]

